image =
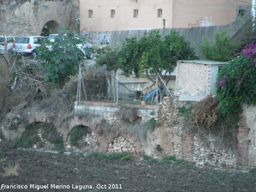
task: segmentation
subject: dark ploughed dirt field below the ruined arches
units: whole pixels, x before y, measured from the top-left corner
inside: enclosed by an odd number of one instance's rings
[[[19,176],[0,176],[0,191],[256,191],[256,173],[9,149],[0,141],[0,173],[19,164]],[[10,189],[10,187],[27,189]],[[8,189],[9,187],[9,189]],[[43,188],[43,189],[42,189]],[[87,188],[87,189],[83,189]]]

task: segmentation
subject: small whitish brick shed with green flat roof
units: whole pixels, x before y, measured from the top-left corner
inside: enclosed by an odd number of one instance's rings
[[[219,68],[228,62],[179,60],[174,95],[180,101],[200,101],[214,94]]]

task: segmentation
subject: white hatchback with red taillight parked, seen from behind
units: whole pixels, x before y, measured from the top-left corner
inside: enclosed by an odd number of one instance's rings
[[[47,38],[43,36],[18,37],[13,44],[13,53],[25,54],[33,58],[37,57],[36,47],[40,46]]]

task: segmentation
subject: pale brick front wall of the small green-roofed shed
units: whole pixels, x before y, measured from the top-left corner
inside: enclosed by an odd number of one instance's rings
[[[210,65],[177,61],[174,95],[180,101],[200,101],[210,94]]]

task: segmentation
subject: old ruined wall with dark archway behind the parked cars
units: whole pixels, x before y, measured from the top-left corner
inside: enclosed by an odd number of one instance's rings
[[[43,26],[49,21],[55,21],[51,28],[75,27],[75,17],[71,0],[29,0],[2,1],[1,35],[40,35]]]

